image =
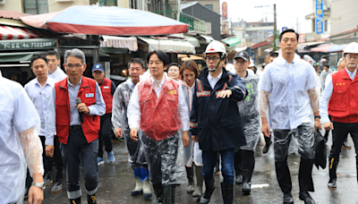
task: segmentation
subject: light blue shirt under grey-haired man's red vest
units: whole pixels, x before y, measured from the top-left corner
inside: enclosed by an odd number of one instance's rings
[[[81,87],[81,80],[76,86],[73,86],[69,78],[67,78],[68,83],[68,96],[70,99],[70,111],[71,111],[71,121],[70,126],[72,125],[81,125],[80,114],[76,107],[76,98]],[[90,109],[90,114],[88,115],[104,115],[106,113],[106,104],[105,100],[102,97],[102,92],[96,82],[96,104],[88,106]],[[46,115],[46,145],[54,145],[54,136],[55,136],[55,88],[53,89],[52,96],[48,103],[47,115]]]

